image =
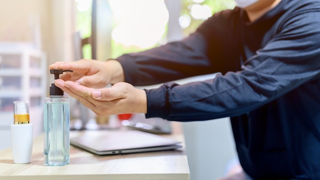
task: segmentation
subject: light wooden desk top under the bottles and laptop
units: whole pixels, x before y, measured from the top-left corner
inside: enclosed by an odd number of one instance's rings
[[[174,122],[175,123],[175,122]],[[78,132],[71,132],[71,137]],[[182,133],[166,135],[183,140]],[[189,179],[189,166],[184,149],[99,156],[70,146],[70,164],[43,166],[43,136],[34,139],[32,162],[14,164],[11,149],[0,151],[0,180],[152,180]]]

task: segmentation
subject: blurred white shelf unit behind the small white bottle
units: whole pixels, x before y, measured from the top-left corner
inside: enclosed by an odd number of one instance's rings
[[[30,121],[34,134],[42,132],[43,105],[47,64],[45,54],[30,43],[0,42],[0,134],[10,139],[13,123],[13,101],[30,102]],[[9,147],[4,142],[0,149]]]

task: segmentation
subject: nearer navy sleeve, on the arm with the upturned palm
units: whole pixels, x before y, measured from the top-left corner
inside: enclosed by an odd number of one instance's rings
[[[320,78],[320,13],[288,17],[241,71],[184,85],[146,90],[147,118],[210,120],[243,115]]]

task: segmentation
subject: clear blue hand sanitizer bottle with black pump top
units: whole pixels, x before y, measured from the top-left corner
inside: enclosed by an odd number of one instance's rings
[[[59,79],[63,72],[72,70],[50,70]],[[64,166],[69,164],[70,156],[70,100],[63,96],[63,91],[55,86],[50,87],[50,97],[44,98],[44,166]]]

